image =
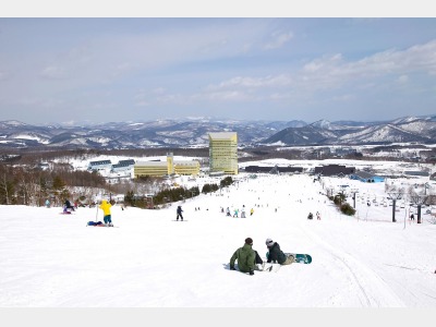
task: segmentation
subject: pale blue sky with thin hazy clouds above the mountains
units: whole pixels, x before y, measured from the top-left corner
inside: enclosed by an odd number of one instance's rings
[[[0,120],[436,114],[436,19],[0,19]]]

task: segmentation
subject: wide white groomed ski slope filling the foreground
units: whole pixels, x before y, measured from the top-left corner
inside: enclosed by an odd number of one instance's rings
[[[384,194],[384,183],[325,178],[325,185]],[[355,185],[354,185],[355,184]],[[365,191],[371,187],[371,190]],[[338,213],[313,177],[240,174],[221,193],[175,207],[112,207],[117,228],[86,227],[101,210],[0,206],[1,307],[436,307],[436,225],[409,221],[407,208],[356,201]],[[349,199],[352,204],[352,201]],[[221,207],[253,208],[247,218]],[[410,209],[410,208],[409,208]],[[402,210],[402,211],[401,211]],[[320,220],[306,219],[319,211]],[[244,239],[265,256],[271,238],[310,265],[249,276],[229,270]]]

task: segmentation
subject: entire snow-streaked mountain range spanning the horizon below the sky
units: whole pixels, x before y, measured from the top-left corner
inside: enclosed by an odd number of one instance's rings
[[[258,145],[363,145],[436,143],[436,116],[405,117],[384,122],[326,120],[237,121],[214,119],[111,122],[98,125],[37,126],[0,122],[1,148],[203,147],[210,132],[237,132],[241,147]]]

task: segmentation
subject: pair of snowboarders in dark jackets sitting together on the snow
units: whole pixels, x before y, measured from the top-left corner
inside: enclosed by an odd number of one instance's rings
[[[267,263],[277,263],[280,265],[290,265],[295,262],[292,255],[287,256],[277,242],[271,239],[266,239],[265,244],[268,249]],[[257,251],[253,250],[253,239],[246,238],[244,245],[239,247],[230,258],[230,270],[237,270],[234,263],[238,261],[238,268],[242,272],[254,275],[254,270],[264,268],[264,261],[258,255]],[[262,266],[262,269],[261,267]]]

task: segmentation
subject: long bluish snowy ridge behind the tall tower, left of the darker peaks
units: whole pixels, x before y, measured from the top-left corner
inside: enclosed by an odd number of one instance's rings
[[[240,145],[256,144],[287,126],[302,121],[235,121],[214,119],[110,122],[96,125],[50,124],[35,126],[0,122],[0,147],[143,148],[190,147],[208,144],[208,133],[232,131]]]

